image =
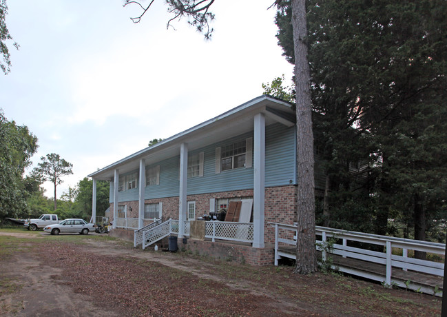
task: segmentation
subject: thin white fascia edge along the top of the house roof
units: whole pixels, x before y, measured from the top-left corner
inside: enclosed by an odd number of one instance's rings
[[[199,123],[198,125],[194,125],[194,127],[190,127],[189,129],[187,129],[187,130],[185,130],[183,132],[180,132],[178,134],[174,134],[173,136],[170,136],[169,138],[167,138],[167,139],[165,139],[163,141],[160,141],[160,142],[156,143],[155,145],[152,145],[150,147],[145,147],[143,150],[140,150],[138,152],[135,152],[134,154],[126,156],[125,158],[123,158],[123,159],[121,159],[119,161],[116,161],[116,162],[114,162],[114,163],[112,163],[110,165],[107,165],[107,166],[101,168],[100,170],[97,170],[96,172],[93,172],[92,174],[87,175],[87,177],[94,177],[94,176],[96,176],[98,174],[101,174],[102,172],[106,172],[107,170],[114,169],[114,167],[116,167],[118,165],[126,163],[127,161],[131,161],[133,159],[136,159],[136,158],[138,158],[138,156],[142,156],[143,154],[146,154],[149,151],[156,150],[157,147],[161,147],[163,145],[166,145],[167,143],[171,143],[172,141],[175,141],[176,139],[180,139],[180,137],[182,137],[182,136],[186,136],[187,134],[190,134],[192,132],[200,130],[203,127],[207,127],[208,125],[210,125],[210,124],[212,124],[212,123],[214,123],[216,121],[225,119],[228,116],[236,114],[237,112],[240,112],[242,110],[250,108],[251,106],[256,105],[258,103],[261,103],[262,101],[268,101],[268,100],[273,101],[273,102],[278,103],[278,104],[281,104],[281,105],[284,105],[284,106],[287,106],[289,108],[292,108],[292,103],[289,103],[289,102],[284,101],[282,99],[270,96],[268,94],[264,94],[264,95],[258,96],[258,97],[254,98],[254,99],[251,99],[250,101],[247,101],[246,103],[242,103],[242,105],[238,105],[236,108],[233,108],[231,110],[228,110],[227,112],[219,114],[218,116],[216,116],[216,117],[214,117],[212,119],[209,119],[207,121]]]

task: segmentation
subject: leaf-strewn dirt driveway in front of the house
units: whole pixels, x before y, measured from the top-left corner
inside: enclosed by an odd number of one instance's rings
[[[0,316],[436,316],[441,300],[108,236],[0,230]]]

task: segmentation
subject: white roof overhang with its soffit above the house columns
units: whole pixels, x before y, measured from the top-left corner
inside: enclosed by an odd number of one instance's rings
[[[146,165],[150,165],[179,155],[182,143],[187,143],[188,151],[192,151],[220,140],[229,139],[232,136],[250,132],[254,127],[253,118],[258,113],[265,115],[266,125],[276,122],[289,127],[295,125],[295,112],[290,103],[268,95],[258,96],[213,119],[107,165],[101,170],[89,174],[88,177],[112,181],[114,170],[118,169],[120,174],[136,170],[141,159],[145,160]]]

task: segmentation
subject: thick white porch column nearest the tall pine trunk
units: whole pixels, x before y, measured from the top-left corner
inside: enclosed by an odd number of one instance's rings
[[[253,247],[264,247],[264,208],[265,208],[265,117],[255,115],[253,140]]]

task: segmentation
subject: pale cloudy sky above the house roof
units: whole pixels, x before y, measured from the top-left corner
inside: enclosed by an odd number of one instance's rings
[[[98,168],[262,94],[292,66],[277,45],[273,0],[216,1],[211,41],[156,0],[141,23],[123,0],[8,0],[12,69],[0,108],[73,164],[68,186]],[[147,3],[147,1],[143,2]],[[44,184],[47,196],[52,185]]]

